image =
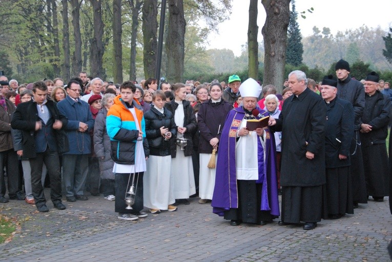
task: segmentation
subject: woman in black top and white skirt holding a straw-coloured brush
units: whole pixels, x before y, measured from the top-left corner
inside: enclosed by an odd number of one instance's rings
[[[212,200],[215,185],[215,168],[208,168],[213,149],[218,149],[221,131],[226,115],[232,106],[222,97],[222,86],[213,83],[210,86],[211,99],[200,104],[197,114],[199,127],[199,153],[200,153],[200,177],[199,177],[199,203],[207,203]]]

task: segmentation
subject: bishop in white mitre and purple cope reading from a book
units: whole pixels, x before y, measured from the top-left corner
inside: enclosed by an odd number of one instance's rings
[[[274,136],[267,127],[246,128],[247,120],[269,116],[257,105],[260,85],[249,78],[239,92],[242,103],[229,112],[222,129],[211,205],[232,226],[265,225],[279,216]]]

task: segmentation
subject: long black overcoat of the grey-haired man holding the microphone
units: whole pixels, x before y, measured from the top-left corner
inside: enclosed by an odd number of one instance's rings
[[[308,88],[284,101],[274,126],[276,131],[282,131],[282,186],[325,184],[325,121],[324,101]],[[315,154],[314,159],[307,159],[306,151]]]

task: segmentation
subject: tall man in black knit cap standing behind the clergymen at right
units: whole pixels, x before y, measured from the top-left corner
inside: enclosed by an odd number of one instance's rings
[[[354,120],[354,136],[351,141],[351,176],[353,183],[353,202],[354,208],[358,207],[358,203],[367,203],[365,174],[362,164],[362,149],[359,139],[359,122],[365,107],[365,92],[363,84],[350,77],[350,65],[347,61],[340,59],[335,65],[335,72],[338,78],[338,98],[347,100],[353,105]]]

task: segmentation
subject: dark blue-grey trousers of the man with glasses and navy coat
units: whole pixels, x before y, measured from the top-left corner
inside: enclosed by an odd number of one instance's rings
[[[63,180],[67,197],[84,194],[88,170],[88,155],[63,155]]]

